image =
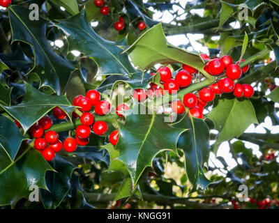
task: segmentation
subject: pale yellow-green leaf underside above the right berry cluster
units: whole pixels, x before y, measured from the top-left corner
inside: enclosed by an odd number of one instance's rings
[[[142,70],[156,63],[186,63],[204,72],[204,61],[199,55],[167,43],[162,24],[142,34],[125,52],[128,52],[135,66],[140,66]]]

